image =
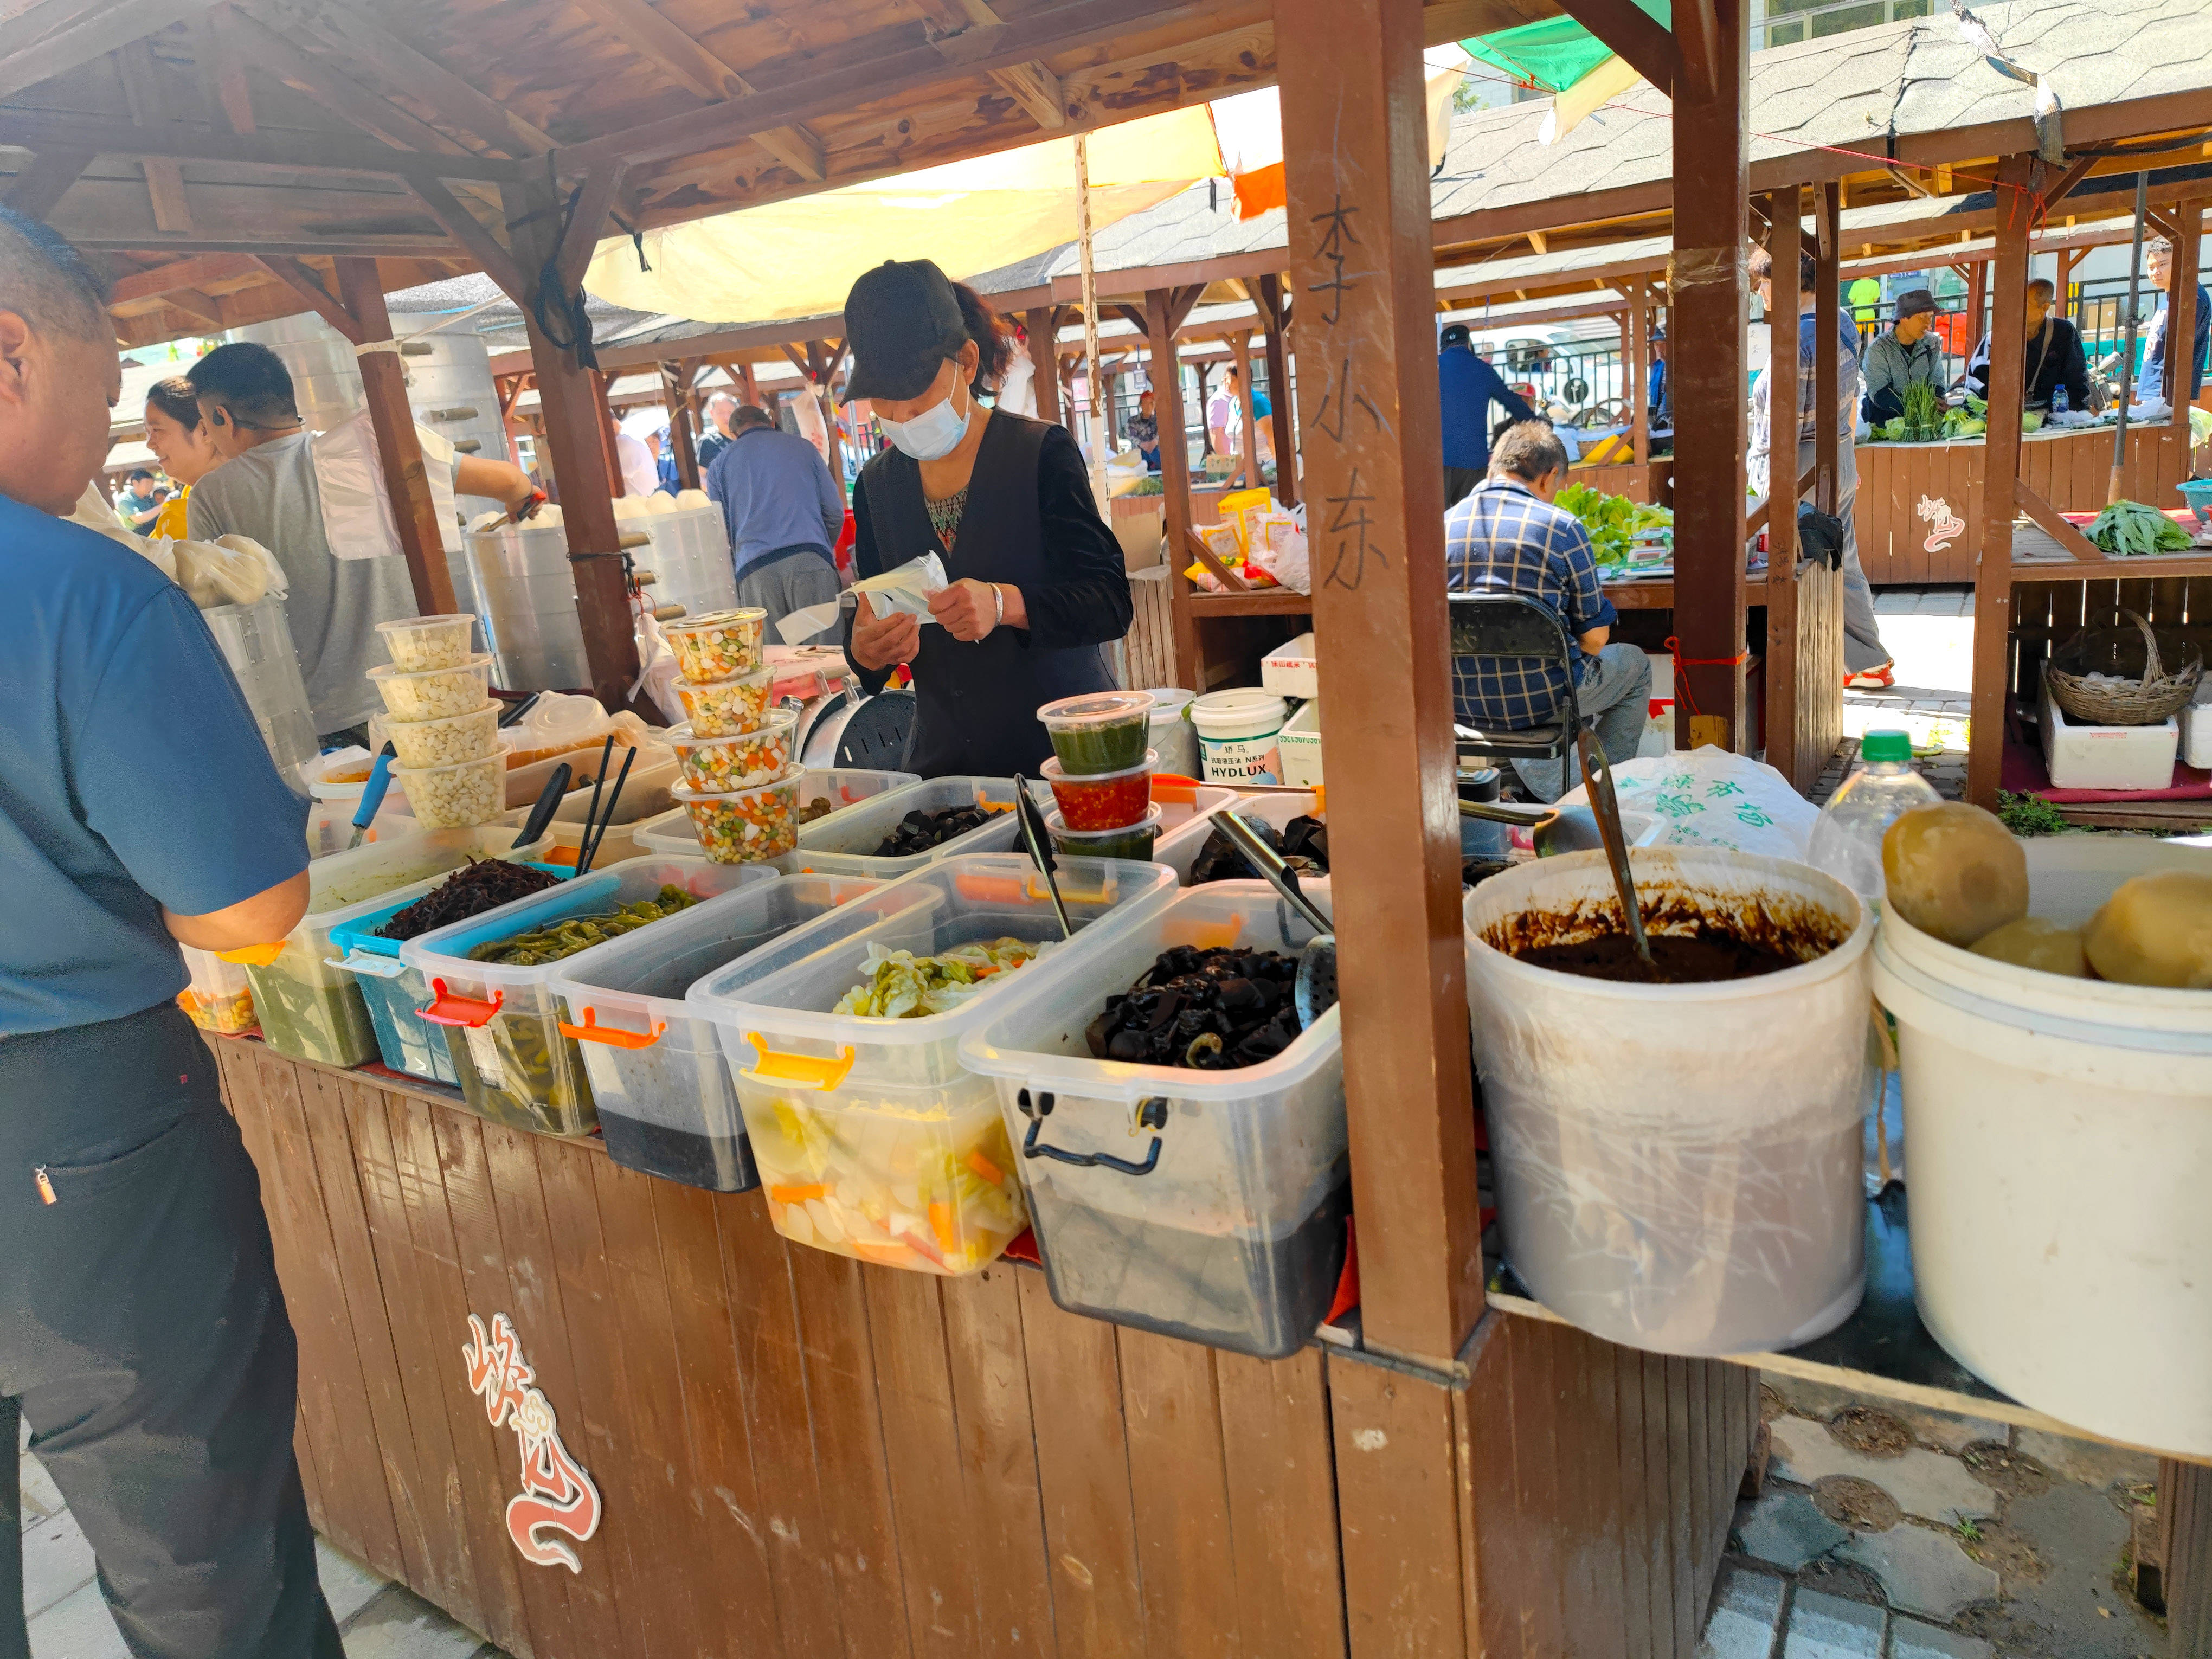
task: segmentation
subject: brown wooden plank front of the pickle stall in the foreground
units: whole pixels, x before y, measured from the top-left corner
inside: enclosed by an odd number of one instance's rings
[[[787,1250],[757,1194],[210,1046],[316,1526],[518,1659],[1692,1652],[1750,1371],[1498,1314],[1464,1389],[1217,1354],[1064,1314],[1035,1270]],[[507,1537],[471,1312],[513,1318],[599,1484],[577,1575]]]

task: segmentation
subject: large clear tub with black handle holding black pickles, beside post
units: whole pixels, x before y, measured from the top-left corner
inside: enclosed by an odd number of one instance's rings
[[[1040,962],[960,1042],[1020,1148],[1055,1303],[1263,1358],[1327,1316],[1352,1214],[1338,1009],[1237,1071],[1093,1060],[1084,1037],[1168,947],[1296,956],[1312,938],[1261,883],[1177,891],[1082,958]]]

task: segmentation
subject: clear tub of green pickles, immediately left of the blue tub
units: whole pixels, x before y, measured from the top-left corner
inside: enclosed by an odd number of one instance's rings
[[[471,858],[529,856],[515,847],[513,825],[471,830],[416,830],[334,852],[307,865],[307,914],[281,945],[248,945],[226,951],[239,962],[254,991],[261,1040],[292,1060],[325,1066],[361,1066],[376,1060],[376,1029],[352,973],[330,964],[336,956],[330,933],[385,902],[400,887],[436,885]]]

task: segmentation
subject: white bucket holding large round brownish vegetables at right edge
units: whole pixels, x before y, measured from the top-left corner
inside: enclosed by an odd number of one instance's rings
[[[2022,845],[2028,914],[2064,927],[2130,876],[2212,869],[2135,836]],[[1889,907],[1874,993],[1929,1332],[2022,1405],[2212,1458],[2212,991],[1995,962]]]

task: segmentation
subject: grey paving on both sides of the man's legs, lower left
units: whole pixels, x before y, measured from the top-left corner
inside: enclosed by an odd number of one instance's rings
[[[131,1659],[100,1586],[93,1551],[62,1493],[29,1451],[22,1469],[22,1599],[31,1659]],[[347,1659],[502,1659],[500,1650],[403,1584],[316,1540],[323,1597],[345,1632]]]

